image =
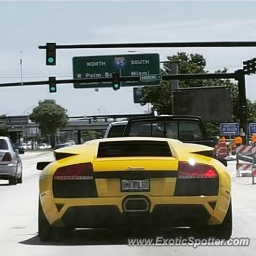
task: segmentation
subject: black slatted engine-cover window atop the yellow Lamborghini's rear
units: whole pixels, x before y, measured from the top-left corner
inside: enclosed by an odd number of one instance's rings
[[[98,158],[125,156],[172,156],[167,141],[111,141],[100,142]]]

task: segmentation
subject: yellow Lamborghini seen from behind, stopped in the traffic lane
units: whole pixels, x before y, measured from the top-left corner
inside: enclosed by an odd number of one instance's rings
[[[37,164],[42,241],[75,228],[196,227],[231,236],[230,177],[211,147],[130,137],[54,154]]]

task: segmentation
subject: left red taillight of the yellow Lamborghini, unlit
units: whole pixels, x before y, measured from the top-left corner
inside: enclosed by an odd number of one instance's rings
[[[92,163],[73,164],[57,169],[53,175],[54,180],[92,180]]]

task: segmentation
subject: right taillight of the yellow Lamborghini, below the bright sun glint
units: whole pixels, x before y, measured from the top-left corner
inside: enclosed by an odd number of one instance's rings
[[[217,171],[211,165],[179,162],[179,179],[217,178]]]

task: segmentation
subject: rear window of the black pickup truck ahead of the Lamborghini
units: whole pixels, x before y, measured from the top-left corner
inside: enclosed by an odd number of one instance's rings
[[[199,123],[194,120],[135,121],[129,131],[130,137],[162,137],[181,141],[203,140]]]

